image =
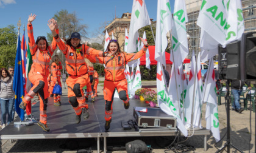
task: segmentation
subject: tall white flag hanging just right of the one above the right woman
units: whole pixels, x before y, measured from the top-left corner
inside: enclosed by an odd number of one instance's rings
[[[155,60],[165,65],[166,34],[171,30],[172,16],[169,0],[157,1],[157,31],[155,36]]]

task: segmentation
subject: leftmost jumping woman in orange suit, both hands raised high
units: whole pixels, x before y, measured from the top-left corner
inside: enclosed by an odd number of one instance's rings
[[[40,96],[40,121],[38,125],[43,128],[44,131],[50,131],[46,124],[46,108],[48,103],[48,75],[51,61],[51,55],[57,47],[55,40],[52,41],[51,46],[48,46],[48,42],[44,36],[38,36],[35,42],[33,27],[31,22],[34,21],[36,15],[29,15],[27,20],[27,35],[29,36],[29,48],[33,59],[33,64],[29,72],[29,80],[34,85],[27,93],[23,102],[20,103],[20,108],[25,110],[27,103],[38,93]],[[49,20],[52,22],[51,26],[59,33],[57,22],[54,19]]]

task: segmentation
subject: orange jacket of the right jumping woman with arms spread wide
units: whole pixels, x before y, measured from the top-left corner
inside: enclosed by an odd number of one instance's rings
[[[110,52],[107,52],[110,53]],[[129,61],[137,60],[144,53],[144,50],[140,50],[137,53],[126,53],[121,52],[118,55],[111,57],[98,57],[98,56],[88,56],[88,59],[92,63],[102,63],[105,64],[105,80],[108,81],[120,81],[126,78],[124,75],[124,69],[126,68],[126,63]]]

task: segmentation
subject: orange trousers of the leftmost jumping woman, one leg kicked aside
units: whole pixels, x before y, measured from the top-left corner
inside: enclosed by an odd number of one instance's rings
[[[24,98],[24,103],[29,103],[29,101],[38,93],[40,97],[40,122],[46,124],[46,110],[48,103],[48,75],[44,76],[41,73],[29,72],[29,80],[33,84],[33,87],[29,90]]]

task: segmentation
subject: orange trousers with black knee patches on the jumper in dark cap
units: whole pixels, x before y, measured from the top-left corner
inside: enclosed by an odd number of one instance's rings
[[[76,115],[82,113],[82,108],[88,109],[88,104],[85,103],[85,95],[83,87],[88,83],[88,74],[79,77],[69,76],[66,80],[68,85],[68,98],[69,103],[73,106]]]

